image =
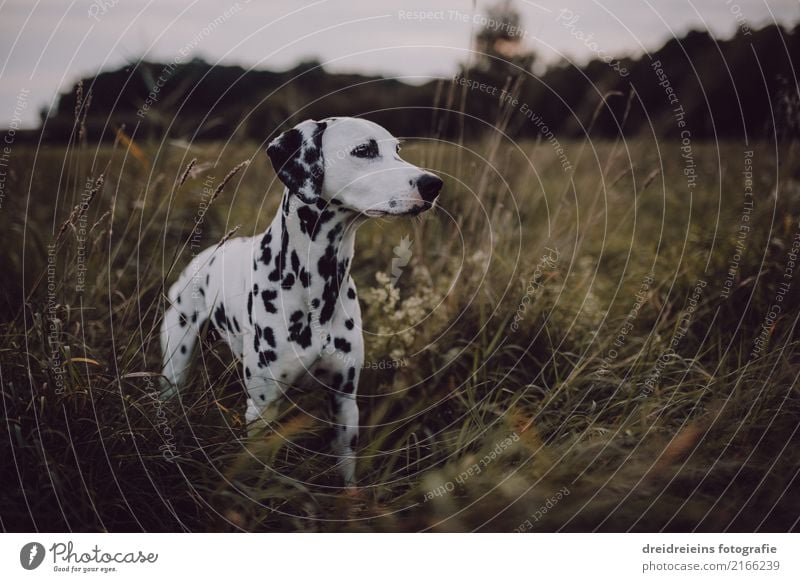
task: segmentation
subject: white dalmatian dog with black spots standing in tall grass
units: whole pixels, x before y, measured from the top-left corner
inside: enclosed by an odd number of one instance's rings
[[[356,230],[370,218],[432,208],[442,180],[402,160],[398,140],[364,119],[304,121],[273,140],[267,155],[285,185],[269,228],[206,249],[169,289],[162,397],[184,384],[208,320],[241,362],[251,432],[274,418],[287,388],[328,392],[333,452],[345,485],[354,487],[364,363],[350,277]]]

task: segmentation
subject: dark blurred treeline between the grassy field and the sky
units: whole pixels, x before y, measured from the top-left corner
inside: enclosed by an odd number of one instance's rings
[[[653,131],[669,138],[688,129],[695,138],[761,139],[798,132],[793,63],[800,57],[800,25],[772,25],[728,40],[695,31],[650,55],[561,63],[542,75],[530,72],[535,55],[519,51],[513,39],[497,40],[511,49],[494,50],[493,39],[479,34],[473,62],[453,78],[421,86],[333,74],[318,62],[283,72],[201,60],[138,62],[83,79],[84,111],[76,112],[76,89],[61,95],[57,111],[43,120],[43,137],[65,142],[83,123],[89,139],[111,139],[124,126],[137,140],[263,141],[300,119],[363,115],[397,135],[470,138],[492,131],[504,108],[516,109],[506,129],[515,138],[535,137],[543,127],[576,137],[590,125],[593,137]],[[686,124],[681,128],[678,113]]]

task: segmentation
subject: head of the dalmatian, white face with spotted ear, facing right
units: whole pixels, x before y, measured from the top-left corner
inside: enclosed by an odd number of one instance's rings
[[[369,217],[412,216],[433,207],[442,180],[400,158],[400,144],[364,119],[307,120],[267,146],[275,172],[306,204],[341,205]]]

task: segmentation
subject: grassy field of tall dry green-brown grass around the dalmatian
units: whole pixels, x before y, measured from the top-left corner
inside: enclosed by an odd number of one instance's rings
[[[795,145],[409,140],[446,185],[359,232],[348,495],[324,394],[247,439],[211,337],[155,392],[164,285],[277,206],[263,144],[76,141],[15,146],[0,211],[3,529],[797,527]]]

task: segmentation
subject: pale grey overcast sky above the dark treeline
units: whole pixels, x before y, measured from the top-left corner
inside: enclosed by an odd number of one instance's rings
[[[478,1],[478,18],[493,2]],[[635,55],[693,28],[731,36],[745,21],[800,21],[800,0],[516,0],[524,43],[542,62]],[[566,26],[569,10],[571,26]],[[414,13],[428,12],[425,19]],[[578,20],[574,20],[574,16]],[[216,21],[216,24],[213,24]],[[0,0],[0,127],[38,111],[77,79],[138,59],[193,56],[283,69],[318,58],[332,71],[422,81],[466,60],[472,0]],[[184,58],[182,55],[188,55]]]

